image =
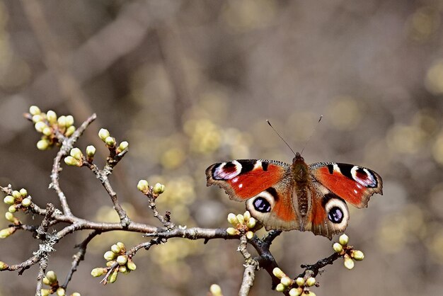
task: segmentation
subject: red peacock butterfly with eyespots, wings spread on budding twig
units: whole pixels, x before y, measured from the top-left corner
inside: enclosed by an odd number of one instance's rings
[[[292,164],[266,159],[237,159],[206,169],[207,186],[224,188],[231,200],[246,201],[266,230],[310,230],[332,239],[345,231],[347,203],[367,207],[374,193],[383,194],[375,171],[334,162],[306,164],[297,152]]]

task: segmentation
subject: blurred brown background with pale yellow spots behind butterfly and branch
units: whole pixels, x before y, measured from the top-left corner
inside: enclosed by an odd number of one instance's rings
[[[277,159],[367,166],[384,181],[368,208],[350,208],[347,234],[365,259],[335,261],[316,295],[439,295],[443,290],[443,1],[0,1],[0,184],[25,187],[35,203],[59,205],[48,190],[56,150],[23,113],[37,105],[98,114],[78,146],[107,149],[106,127],[130,152],[111,178],[137,222],[159,225],[137,181],[161,182],[161,212],[188,227],[229,227],[244,205],[207,188],[205,169],[226,159]],[[320,115],[324,118],[319,125]],[[314,131],[315,129],[315,131]],[[309,136],[311,140],[306,143]],[[61,186],[78,217],[117,221],[110,198],[85,168],[64,166]],[[1,206],[6,212],[6,205]],[[32,217],[18,215],[24,222]],[[35,223],[40,221],[35,217]],[[0,228],[7,227],[3,220]],[[86,232],[55,246],[49,270],[64,281]],[[335,238],[336,239],[336,238]],[[206,295],[212,283],[236,295],[243,274],[238,241],[171,239],[134,257],[137,271],[102,286],[91,269],[116,241],[101,234],[69,284],[81,295]],[[1,261],[38,249],[29,233],[0,241]],[[308,232],[285,232],[272,253],[292,277],[301,263],[332,254]],[[38,267],[0,275],[0,295],[33,295]],[[279,295],[256,273],[251,295]]]

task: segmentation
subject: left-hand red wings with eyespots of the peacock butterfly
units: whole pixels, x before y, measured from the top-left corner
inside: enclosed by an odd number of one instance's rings
[[[246,208],[267,230],[299,229],[290,169],[289,164],[264,159],[225,161],[207,168],[207,186],[224,188],[231,200],[246,200]]]

